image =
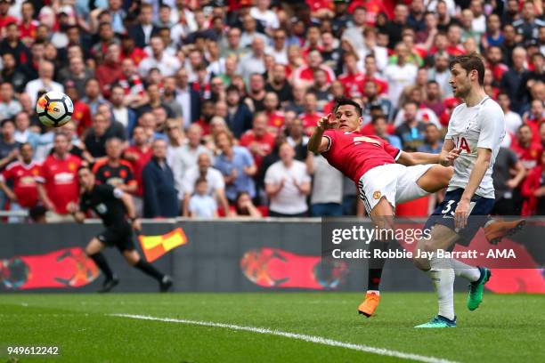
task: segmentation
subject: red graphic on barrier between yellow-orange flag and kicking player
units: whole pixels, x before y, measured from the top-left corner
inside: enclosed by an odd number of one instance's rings
[[[240,269],[258,286],[318,290],[337,288],[348,273],[346,262],[293,254],[278,248],[247,251],[240,259]]]

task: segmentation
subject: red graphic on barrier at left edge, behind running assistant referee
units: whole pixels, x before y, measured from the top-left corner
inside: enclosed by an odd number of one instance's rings
[[[85,286],[98,275],[94,262],[79,247],[0,260],[0,283],[14,290]]]

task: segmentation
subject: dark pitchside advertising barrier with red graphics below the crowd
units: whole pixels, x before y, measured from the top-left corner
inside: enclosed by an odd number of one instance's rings
[[[371,229],[369,221],[358,221]],[[422,221],[407,222],[420,225]],[[416,223],[416,224],[415,224]],[[545,219],[526,226],[512,246],[529,261],[525,269],[499,266],[492,273],[492,291],[500,293],[545,293],[542,277]],[[187,243],[172,245],[168,238],[156,238],[156,245],[172,246],[153,262],[175,278],[177,292],[252,292],[268,290],[362,291],[366,286],[365,261],[332,261],[321,258],[330,250],[324,244],[321,219],[189,220],[172,219],[143,222],[142,234],[162,236],[181,228]],[[329,225],[330,227],[330,225]],[[84,224],[0,224],[0,292],[82,291],[93,292],[102,283],[94,263],[85,257],[86,243],[102,230],[98,221]],[[518,236],[518,235],[517,235]],[[469,246],[490,248],[483,236]],[[521,241],[537,241],[524,245]],[[475,243],[474,243],[475,242]],[[141,249],[139,244],[138,248]],[[158,245],[158,246],[159,246]],[[327,245],[327,244],[326,244]],[[118,292],[157,291],[157,283],[126,264],[115,248],[105,255],[121,283]],[[519,266],[521,267],[521,266]],[[429,291],[427,274],[416,270],[410,259],[386,264],[382,288],[385,291]],[[465,289],[460,280],[457,289]]]

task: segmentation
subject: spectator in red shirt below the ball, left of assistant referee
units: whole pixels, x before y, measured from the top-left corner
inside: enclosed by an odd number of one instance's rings
[[[55,134],[53,154],[46,157],[36,178],[38,198],[47,208],[47,222],[71,222],[69,203],[77,203],[79,183],[77,169],[81,159],[69,154],[69,140],[64,133]]]

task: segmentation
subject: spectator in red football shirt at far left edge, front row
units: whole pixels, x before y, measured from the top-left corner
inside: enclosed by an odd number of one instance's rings
[[[0,189],[10,199],[10,210],[28,211],[37,205],[36,177],[40,165],[32,161],[33,149],[29,143],[20,145],[20,160],[7,165],[0,174]],[[11,183],[12,188],[6,183]],[[9,222],[22,222],[20,217],[10,217]]]

